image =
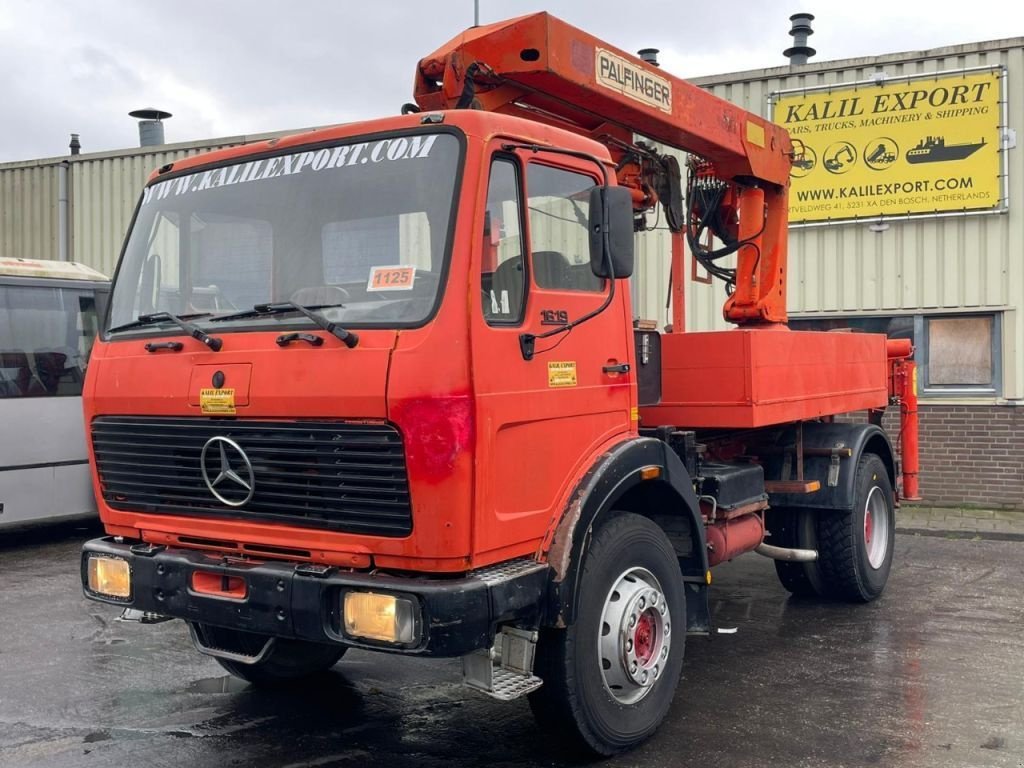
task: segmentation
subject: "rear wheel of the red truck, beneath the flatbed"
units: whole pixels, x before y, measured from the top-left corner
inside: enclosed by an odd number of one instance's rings
[[[892,483],[886,465],[864,454],[854,478],[852,512],[818,517],[818,563],[828,591],[852,602],[870,602],[889,581],[896,540]]]

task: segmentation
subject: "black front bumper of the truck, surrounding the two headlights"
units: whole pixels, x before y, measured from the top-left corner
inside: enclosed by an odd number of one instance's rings
[[[131,595],[125,600],[89,590],[90,555],[127,560]],[[197,592],[193,573],[242,579],[244,598]],[[341,570],[284,561],[254,562],[232,556],[106,537],[82,549],[85,596],[187,622],[255,632],[271,637],[341,643],[354,647],[432,656],[460,656],[489,648],[499,623],[536,621],[548,584],[548,566],[528,558],[511,560],[454,578],[407,578]],[[419,636],[404,646],[344,634],[341,606],[348,591],[392,594],[419,607]]]

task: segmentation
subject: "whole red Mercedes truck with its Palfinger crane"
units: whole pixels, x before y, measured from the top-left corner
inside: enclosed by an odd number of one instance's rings
[[[909,349],[786,328],[782,128],[546,13],[458,36],[415,98],[152,175],[86,381],[85,594],[256,684],[462,657],[621,752],[718,563],[882,593],[896,454],[834,417],[912,400]],[[628,283],[655,209],[666,333]],[[684,331],[684,243],[737,328]]]

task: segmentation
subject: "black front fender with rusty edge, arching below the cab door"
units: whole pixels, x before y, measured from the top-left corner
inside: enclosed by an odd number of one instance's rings
[[[641,470],[654,467],[657,477],[641,476]],[[552,569],[546,624],[564,627],[575,620],[586,545],[595,521],[613,509],[643,514],[666,528],[687,583],[687,600],[694,600],[694,592],[702,598],[687,612],[707,626],[708,548],[699,503],[682,461],[653,437],[633,437],[608,449],[573,487],[545,543]]]

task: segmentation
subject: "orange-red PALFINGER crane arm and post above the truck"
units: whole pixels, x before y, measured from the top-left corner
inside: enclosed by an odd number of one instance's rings
[[[732,283],[726,319],[785,322],[793,144],[780,126],[543,12],[462,33],[421,59],[414,90],[423,110],[517,115],[606,144],[637,211],[660,201],[670,228],[685,229],[694,256]],[[637,134],[699,158],[690,163],[685,216],[678,164]],[[721,245],[713,246],[712,234]],[[731,253],[735,270],[716,263]],[[677,306],[680,265],[673,269]]]

